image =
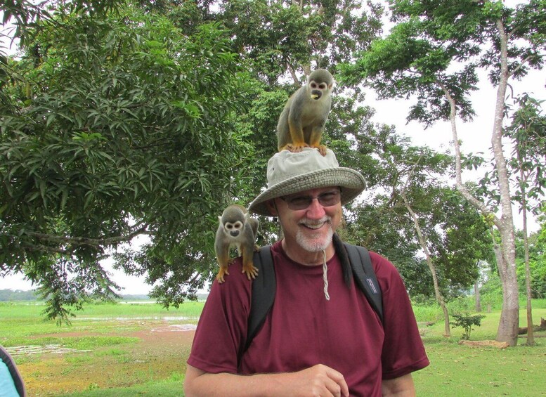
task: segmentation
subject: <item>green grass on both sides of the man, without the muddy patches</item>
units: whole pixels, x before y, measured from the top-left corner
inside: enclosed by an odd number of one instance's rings
[[[472,302],[457,302],[457,309],[472,314]],[[202,310],[202,302],[188,302],[178,309],[167,311],[157,304],[93,304],[84,307],[70,326],[58,327],[44,322],[40,313],[43,306],[32,304],[0,304],[0,344],[18,346],[28,344],[63,344],[76,350],[92,353],[66,353],[57,364],[59,377],[77,379],[99,362],[108,363],[108,382],[92,379],[81,383],[86,390],[68,392],[59,388],[55,396],[109,397],[109,396],[183,396],[183,363],[189,346],[170,357],[178,369],[158,377],[155,368],[164,366],[168,350],[159,358],[143,362],[138,338],[127,332],[150,327],[150,321],[162,323],[164,317],[185,318],[184,323],[195,323]],[[546,332],[535,333],[535,346],[526,346],[526,338],[519,338],[518,346],[508,349],[470,347],[458,344],[462,328],[451,329],[451,337],[443,337],[441,309],[435,305],[415,305],[415,317],[420,323],[423,341],[431,365],[414,372],[418,396],[545,396]],[[483,313],[481,326],[474,327],[472,341],[493,340],[497,332],[500,310]],[[546,299],[533,301],[533,322],[546,318]],[[145,318],[146,320],[141,320]],[[154,320],[157,318],[159,320]],[[187,320],[186,320],[187,319]],[[428,325],[425,325],[428,323]],[[526,326],[525,306],[521,306],[520,326]],[[82,336],[79,336],[81,334]],[[39,337],[37,337],[39,335]],[[41,355],[18,356],[18,365],[32,368],[28,377],[41,379],[48,372],[41,367]],[[46,366],[51,366],[47,363]],[[115,372],[117,370],[117,372]],[[125,372],[124,372],[125,371]],[[25,373],[23,374],[25,376]],[[59,383],[62,379],[59,379]],[[72,389],[74,390],[74,389]],[[38,394],[52,396],[52,394]]]

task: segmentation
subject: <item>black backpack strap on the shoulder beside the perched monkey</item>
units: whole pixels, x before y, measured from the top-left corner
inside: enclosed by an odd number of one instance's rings
[[[275,301],[277,280],[270,245],[265,245],[260,248],[259,252],[254,252],[254,266],[258,268],[258,275],[252,281],[252,300],[248,316],[247,340],[242,353],[247,351],[252,339],[264,325],[267,313],[273,306],[273,301]]]

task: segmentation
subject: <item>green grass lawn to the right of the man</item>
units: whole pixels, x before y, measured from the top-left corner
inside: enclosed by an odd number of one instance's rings
[[[533,323],[546,318],[545,300],[533,301]],[[525,307],[525,306],[520,306]],[[425,312],[427,312],[425,310]],[[417,320],[420,310],[415,310]],[[472,313],[472,311],[471,311]],[[471,341],[494,340],[500,311],[482,313],[486,317],[470,334]],[[535,346],[526,346],[526,335],[518,346],[508,349],[470,347],[458,344],[462,328],[451,328],[451,337],[443,337],[441,311],[432,318],[436,323],[424,327],[424,346],[431,364],[414,372],[417,396],[545,396],[546,332],[535,332]],[[519,313],[520,326],[526,326],[526,309]]]

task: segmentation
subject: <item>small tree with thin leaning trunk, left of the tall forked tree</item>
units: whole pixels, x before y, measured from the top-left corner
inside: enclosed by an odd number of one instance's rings
[[[397,169],[394,174],[400,181],[391,198],[403,204],[412,220],[432,276],[436,301],[443,311],[444,335],[449,337],[446,294],[455,285],[468,287],[478,277],[477,263],[487,256],[479,249],[488,237],[487,227],[473,209],[464,207],[460,195],[443,187],[438,180],[438,175],[442,176],[450,165],[450,157],[421,149],[413,153],[418,157],[411,160],[411,152],[405,150],[405,155],[398,157],[399,163],[394,164]],[[412,197],[408,198],[408,192]],[[465,222],[465,217],[472,221]]]

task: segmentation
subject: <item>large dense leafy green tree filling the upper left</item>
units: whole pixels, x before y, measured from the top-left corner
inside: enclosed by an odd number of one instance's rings
[[[264,186],[285,100],[311,67],[334,71],[379,31],[380,8],[362,7],[4,4],[23,54],[0,67],[2,273],[25,273],[65,319],[65,304],[112,296],[99,260],[144,234],[116,266],[158,282],[152,297],[166,306],[195,297],[216,270],[216,215]],[[275,226],[261,231],[264,242]]]

